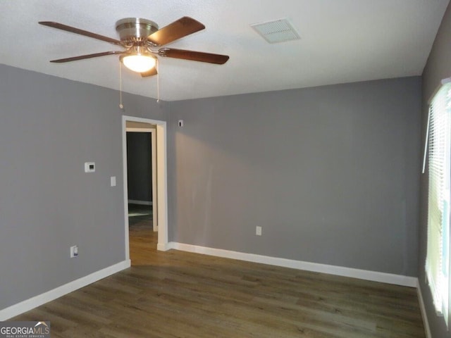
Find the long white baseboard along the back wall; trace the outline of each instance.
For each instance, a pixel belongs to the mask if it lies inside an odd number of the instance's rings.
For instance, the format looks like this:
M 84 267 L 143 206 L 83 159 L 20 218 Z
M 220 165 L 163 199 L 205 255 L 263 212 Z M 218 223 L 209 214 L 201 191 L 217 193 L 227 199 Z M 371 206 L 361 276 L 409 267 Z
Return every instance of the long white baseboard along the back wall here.
M 254 263 L 263 263 L 268 265 L 283 266 L 298 270 L 313 271 L 315 273 L 328 273 L 330 275 L 339 275 L 343 277 L 359 278 L 361 280 L 371 280 L 373 282 L 383 282 L 388 284 L 401 285 L 404 287 L 416 287 L 416 277 L 404 275 L 394 275 L 391 273 L 378 273 L 370 270 L 359 270 L 354 268 L 345 268 L 342 266 L 326 265 L 320 263 L 310 263 L 304 261 L 295 261 L 287 258 L 277 258 L 270 256 L 261 256 L 254 253 L 243 253 L 238 251 L 228 251 L 223 249 L 208 248 L 191 244 L 177 242 L 168 243 L 168 249 L 188 251 L 194 253 L 203 253 L 210 256 L 223 258 L 232 258 L 240 261 L 249 261 Z

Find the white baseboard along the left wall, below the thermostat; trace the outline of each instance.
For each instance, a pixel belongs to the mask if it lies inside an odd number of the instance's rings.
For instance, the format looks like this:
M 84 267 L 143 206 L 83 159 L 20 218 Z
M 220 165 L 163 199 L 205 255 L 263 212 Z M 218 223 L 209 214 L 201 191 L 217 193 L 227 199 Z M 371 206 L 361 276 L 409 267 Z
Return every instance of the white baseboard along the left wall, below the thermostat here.
M 122 261 L 85 277 L 81 277 L 78 280 L 74 280 L 73 282 L 68 282 L 67 284 L 61 285 L 61 287 L 57 287 L 56 289 L 44 292 L 44 294 L 39 294 L 38 296 L 21 301 L 13 306 L 9 306 L 8 308 L 4 308 L 0 310 L 0 321 L 13 318 L 16 315 L 30 311 L 37 306 L 41 306 L 44 303 L 48 303 L 49 301 L 53 301 L 54 299 L 64 296 L 65 294 L 97 282 L 97 280 L 101 280 L 105 277 L 113 275 L 114 273 L 118 273 L 121 270 L 130 268 L 130 264 L 130 260 Z

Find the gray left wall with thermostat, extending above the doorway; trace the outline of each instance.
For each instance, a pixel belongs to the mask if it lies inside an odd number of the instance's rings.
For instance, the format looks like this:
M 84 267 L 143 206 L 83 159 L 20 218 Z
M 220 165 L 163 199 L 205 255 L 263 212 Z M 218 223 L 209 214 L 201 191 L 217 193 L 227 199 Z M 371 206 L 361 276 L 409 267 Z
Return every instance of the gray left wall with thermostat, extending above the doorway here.
M 6 65 L 0 79 L 3 309 L 125 260 L 121 115 L 166 115 L 153 99 L 124 94 L 123 112 L 114 90 Z

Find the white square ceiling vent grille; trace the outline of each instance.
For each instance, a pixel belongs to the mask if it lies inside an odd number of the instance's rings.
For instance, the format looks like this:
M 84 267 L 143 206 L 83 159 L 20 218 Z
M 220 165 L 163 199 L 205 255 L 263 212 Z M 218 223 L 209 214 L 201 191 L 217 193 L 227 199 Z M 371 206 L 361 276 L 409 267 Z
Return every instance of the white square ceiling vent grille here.
M 251 27 L 270 44 L 299 40 L 301 38 L 287 19 L 255 23 Z

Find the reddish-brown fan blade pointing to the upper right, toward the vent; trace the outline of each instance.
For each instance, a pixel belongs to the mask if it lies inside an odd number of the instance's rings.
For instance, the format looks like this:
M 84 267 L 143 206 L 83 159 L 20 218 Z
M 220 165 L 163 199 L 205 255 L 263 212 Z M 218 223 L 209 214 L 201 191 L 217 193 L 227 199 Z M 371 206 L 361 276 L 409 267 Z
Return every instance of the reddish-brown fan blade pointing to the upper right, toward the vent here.
M 169 44 L 181 37 L 186 37 L 199 30 L 203 30 L 205 26 L 199 21 L 190 18 L 189 16 L 184 16 L 173 23 L 157 30 L 147 37 L 147 40 L 154 44 L 155 46 L 163 46 L 164 44 Z

